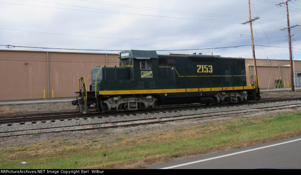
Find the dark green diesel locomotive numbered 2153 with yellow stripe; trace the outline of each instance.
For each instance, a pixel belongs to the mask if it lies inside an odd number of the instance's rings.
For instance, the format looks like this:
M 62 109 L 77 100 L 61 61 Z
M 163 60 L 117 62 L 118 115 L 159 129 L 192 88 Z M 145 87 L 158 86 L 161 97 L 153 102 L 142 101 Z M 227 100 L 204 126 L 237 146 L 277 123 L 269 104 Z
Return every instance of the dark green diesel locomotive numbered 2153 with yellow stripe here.
M 73 105 L 80 112 L 152 109 L 166 104 L 237 103 L 259 100 L 259 81 L 246 75 L 243 58 L 213 55 L 119 53 L 119 66 L 92 68 L 92 84 L 79 79 Z M 249 86 L 247 86 L 247 82 Z

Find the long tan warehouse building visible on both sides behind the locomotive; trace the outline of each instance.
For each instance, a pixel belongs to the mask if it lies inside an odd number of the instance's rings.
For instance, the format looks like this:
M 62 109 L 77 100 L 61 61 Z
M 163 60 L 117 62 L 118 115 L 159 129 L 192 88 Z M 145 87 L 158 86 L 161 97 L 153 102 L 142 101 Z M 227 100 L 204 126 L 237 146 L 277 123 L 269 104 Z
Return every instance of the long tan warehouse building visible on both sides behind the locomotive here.
M 118 66 L 118 54 L 0 50 L 0 100 L 76 97 L 79 78 L 103 65 Z M 290 87 L 290 60 L 256 59 L 256 65 L 261 88 Z M 301 86 L 301 61 L 294 67 Z M 254 75 L 253 59 L 246 59 L 246 75 Z

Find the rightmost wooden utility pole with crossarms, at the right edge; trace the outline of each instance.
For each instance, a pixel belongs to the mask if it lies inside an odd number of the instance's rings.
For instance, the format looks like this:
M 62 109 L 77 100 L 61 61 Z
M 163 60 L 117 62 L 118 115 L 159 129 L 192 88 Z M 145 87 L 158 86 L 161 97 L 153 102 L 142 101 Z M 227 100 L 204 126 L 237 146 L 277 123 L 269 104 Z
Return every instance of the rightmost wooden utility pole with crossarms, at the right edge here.
M 290 18 L 289 18 L 289 15 L 288 15 L 288 5 L 287 5 L 287 2 L 289 2 L 289 1 L 290 0 L 287 0 L 285 2 L 277 4 L 277 7 L 278 7 L 278 5 L 281 6 L 281 4 L 284 4 L 284 3 L 286 4 L 287 27 L 283 28 L 283 29 L 280 29 L 280 30 L 287 29 L 287 31 L 288 31 L 288 46 L 289 46 L 289 50 L 290 50 L 290 86 L 292 87 L 292 91 L 296 91 L 295 90 L 295 83 L 294 83 L 294 74 L 293 74 L 293 58 L 292 58 L 292 44 L 291 44 L 291 38 L 290 38 L 290 28 L 296 27 L 296 26 L 299 26 L 299 25 L 290 26 Z

